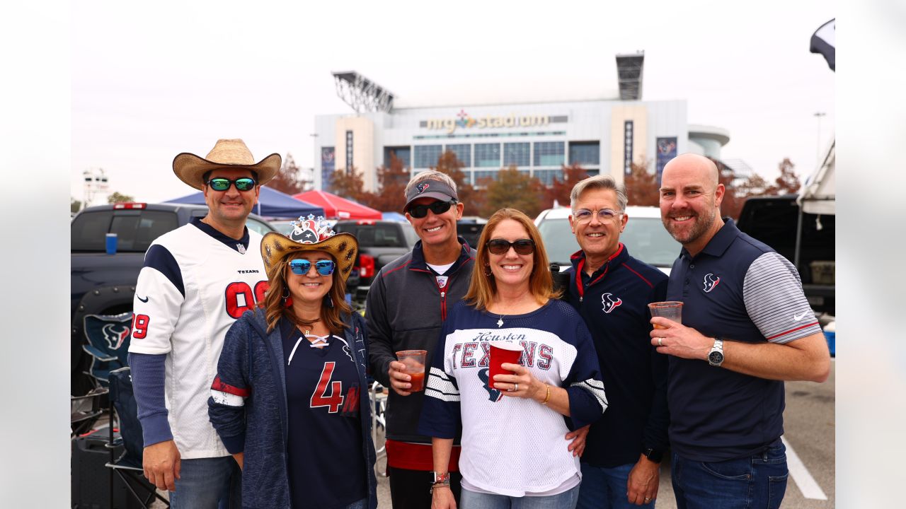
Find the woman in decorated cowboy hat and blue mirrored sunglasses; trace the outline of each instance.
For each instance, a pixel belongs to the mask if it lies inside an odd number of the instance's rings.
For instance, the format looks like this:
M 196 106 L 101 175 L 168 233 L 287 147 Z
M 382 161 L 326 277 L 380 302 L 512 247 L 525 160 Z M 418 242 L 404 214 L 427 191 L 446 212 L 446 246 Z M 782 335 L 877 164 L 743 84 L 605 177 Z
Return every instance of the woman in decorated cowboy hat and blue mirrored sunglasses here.
M 264 305 L 226 332 L 208 414 L 243 507 L 374 509 L 367 332 L 343 299 L 358 242 L 320 217 L 293 225 L 261 242 Z

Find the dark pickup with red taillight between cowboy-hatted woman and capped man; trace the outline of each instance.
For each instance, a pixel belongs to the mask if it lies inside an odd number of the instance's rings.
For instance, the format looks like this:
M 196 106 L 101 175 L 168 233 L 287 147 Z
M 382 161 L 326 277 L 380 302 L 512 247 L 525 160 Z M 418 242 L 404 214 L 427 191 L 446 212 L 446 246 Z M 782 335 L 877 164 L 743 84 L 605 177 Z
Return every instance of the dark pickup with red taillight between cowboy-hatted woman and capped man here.
M 409 223 L 400 221 L 380 221 L 376 219 L 344 219 L 333 225 L 339 233 L 355 235 L 359 240 L 359 255 L 355 260 L 353 273 L 357 273 L 357 284 L 346 283 L 346 291 L 352 293 L 356 301 L 364 299 L 371 288 L 375 274 L 386 264 L 409 253 L 412 246 L 419 241 L 419 235 Z

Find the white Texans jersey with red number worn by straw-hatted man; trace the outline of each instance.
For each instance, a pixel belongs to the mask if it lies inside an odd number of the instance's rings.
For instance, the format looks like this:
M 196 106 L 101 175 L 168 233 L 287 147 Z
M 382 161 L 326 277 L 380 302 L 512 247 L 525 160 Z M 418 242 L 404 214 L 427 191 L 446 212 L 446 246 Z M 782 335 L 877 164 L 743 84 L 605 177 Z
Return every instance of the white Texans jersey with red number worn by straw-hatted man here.
M 207 230 L 207 231 L 206 231 Z M 161 235 L 145 254 L 133 302 L 130 352 L 166 354 L 169 426 L 185 458 L 227 456 L 207 418 L 226 330 L 263 302 L 261 235 L 248 247 L 193 222 Z

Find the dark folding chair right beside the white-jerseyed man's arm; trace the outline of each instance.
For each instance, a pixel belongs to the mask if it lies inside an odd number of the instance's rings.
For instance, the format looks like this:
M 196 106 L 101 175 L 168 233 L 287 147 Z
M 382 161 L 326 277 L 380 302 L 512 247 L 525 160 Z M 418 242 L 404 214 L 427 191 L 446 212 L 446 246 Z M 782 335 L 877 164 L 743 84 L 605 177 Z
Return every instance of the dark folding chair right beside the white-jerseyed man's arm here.
M 113 506 L 113 475 L 118 475 L 130 494 L 145 509 L 157 498 L 167 504 L 169 501 L 159 495 L 157 488 L 144 478 L 141 468 L 141 459 L 144 452 L 143 438 L 141 436 L 141 423 L 139 422 L 139 407 L 132 392 L 132 376 L 129 367 L 112 370 L 110 372 L 110 401 L 111 401 L 111 427 L 110 442 L 111 460 L 105 466 L 111 469 L 111 507 Z M 115 414 L 114 414 L 115 411 Z M 113 417 L 117 418 L 120 426 L 120 437 L 113 437 Z M 116 457 L 114 449 L 123 446 L 120 457 Z M 139 495 L 137 488 L 147 495 Z

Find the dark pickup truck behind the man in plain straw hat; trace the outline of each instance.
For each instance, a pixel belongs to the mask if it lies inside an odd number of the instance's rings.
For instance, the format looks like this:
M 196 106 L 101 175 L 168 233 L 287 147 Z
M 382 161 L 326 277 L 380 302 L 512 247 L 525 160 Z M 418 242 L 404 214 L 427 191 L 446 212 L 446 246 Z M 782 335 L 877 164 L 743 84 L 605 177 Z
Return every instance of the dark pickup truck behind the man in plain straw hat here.
M 132 311 L 135 283 L 151 242 L 170 230 L 207 215 L 207 206 L 183 204 L 117 203 L 90 206 L 72 217 L 72 394 L 90 387 L 82 375 L 91 362 L 82 351 L 83 319 L 89 314 L 119 314 Z M 274 231 L 254 214 L 246 223 L 264 235 Z M 117 250 L 107 255 L 106 235 L 117 234 Z

